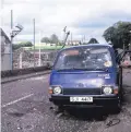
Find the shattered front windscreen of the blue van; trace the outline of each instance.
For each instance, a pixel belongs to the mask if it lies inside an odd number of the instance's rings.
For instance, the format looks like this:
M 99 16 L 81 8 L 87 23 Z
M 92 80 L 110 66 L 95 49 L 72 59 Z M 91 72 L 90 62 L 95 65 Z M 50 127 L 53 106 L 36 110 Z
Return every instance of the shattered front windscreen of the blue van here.
M 112 65 L 110 51 L 106 47 L 76 47 L 66 49 L 58 56 L 56 70 L 106 69 Z

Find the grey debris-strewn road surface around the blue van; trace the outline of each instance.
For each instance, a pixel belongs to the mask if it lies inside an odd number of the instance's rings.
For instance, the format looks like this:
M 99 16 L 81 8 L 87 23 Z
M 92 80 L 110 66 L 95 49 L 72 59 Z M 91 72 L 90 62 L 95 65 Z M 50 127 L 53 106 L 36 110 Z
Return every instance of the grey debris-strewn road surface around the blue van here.
M 103 109 L 57 111 L 48 100 L 48 77 L 2 84 L 2 132 L 131 132 L 131 70 L 123 74 L 124 100 L 118 115 Z M 112 119 L 120 122 L 107 128 Z

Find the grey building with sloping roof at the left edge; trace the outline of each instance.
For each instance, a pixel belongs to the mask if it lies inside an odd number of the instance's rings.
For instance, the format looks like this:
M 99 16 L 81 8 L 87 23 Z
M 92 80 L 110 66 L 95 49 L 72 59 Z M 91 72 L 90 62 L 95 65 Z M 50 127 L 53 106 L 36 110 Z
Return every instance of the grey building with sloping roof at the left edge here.
M 10 52 L 10 44 L 11 40 L 0 28 L 0 43 L 1 43 L 1 71 L 11 70 L 11 52 Z

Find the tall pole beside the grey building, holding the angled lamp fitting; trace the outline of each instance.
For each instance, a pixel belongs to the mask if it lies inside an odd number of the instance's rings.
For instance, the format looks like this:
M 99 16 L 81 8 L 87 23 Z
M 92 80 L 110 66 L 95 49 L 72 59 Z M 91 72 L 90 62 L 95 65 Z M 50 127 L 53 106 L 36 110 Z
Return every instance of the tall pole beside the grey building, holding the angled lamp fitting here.
M 13 29 L 13 10 L 11 10 L 11 32 Z M 13 70 L 13 51 L 12 51 L 12 45 L 13 45 L 13 36 L 11 35 L 11 44 L 10 44 L 10 61 L 11 61 L 11 70 Z

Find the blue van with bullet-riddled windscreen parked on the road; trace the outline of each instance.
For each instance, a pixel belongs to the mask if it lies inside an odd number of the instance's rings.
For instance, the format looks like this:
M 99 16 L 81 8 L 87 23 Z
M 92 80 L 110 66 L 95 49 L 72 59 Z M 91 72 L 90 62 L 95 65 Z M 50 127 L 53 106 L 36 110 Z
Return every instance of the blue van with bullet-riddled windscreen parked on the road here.
M 74 46 L 58 52 L 49 85 L 49 100 L 59 108 L 120 109 L 122 68 L 108 44 Z

